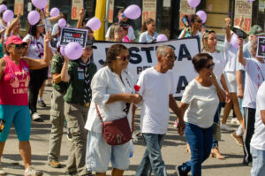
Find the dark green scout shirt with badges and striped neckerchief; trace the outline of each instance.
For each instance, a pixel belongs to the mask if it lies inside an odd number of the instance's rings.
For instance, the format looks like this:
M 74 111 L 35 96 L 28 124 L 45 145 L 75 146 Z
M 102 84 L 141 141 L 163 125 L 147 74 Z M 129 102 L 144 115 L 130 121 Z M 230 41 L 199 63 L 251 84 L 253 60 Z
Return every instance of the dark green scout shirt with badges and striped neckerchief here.
M 64 101 L 79 104 L 90 103 L 92 97 L 90 83 L 96 70 L 94 63 L 84 64 L 81 58 L 70 61 L 68 65 L 69 87 L 64 95 Z

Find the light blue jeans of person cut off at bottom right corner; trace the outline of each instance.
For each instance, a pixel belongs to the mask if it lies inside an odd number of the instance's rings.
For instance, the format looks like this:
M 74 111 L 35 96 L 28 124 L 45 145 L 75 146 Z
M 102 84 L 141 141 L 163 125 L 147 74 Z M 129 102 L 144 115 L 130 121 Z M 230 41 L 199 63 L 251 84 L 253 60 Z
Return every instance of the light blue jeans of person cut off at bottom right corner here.
M 265 150 L 255 149 L 250 146 L 253 159 L 251 176 L 263 176 L 265 173 Z

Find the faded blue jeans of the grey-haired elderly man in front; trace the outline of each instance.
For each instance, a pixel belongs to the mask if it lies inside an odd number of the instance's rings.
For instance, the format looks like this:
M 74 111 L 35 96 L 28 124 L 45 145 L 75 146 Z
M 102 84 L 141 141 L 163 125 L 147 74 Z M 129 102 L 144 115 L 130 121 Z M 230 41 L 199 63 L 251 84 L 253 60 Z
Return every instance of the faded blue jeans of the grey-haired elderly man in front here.
M 155 176 L 167 176 L 161 153 L 164 134 L 142 134 L 142 136 L 147 149 L 135 176 L 149 176 L 152 171 Z

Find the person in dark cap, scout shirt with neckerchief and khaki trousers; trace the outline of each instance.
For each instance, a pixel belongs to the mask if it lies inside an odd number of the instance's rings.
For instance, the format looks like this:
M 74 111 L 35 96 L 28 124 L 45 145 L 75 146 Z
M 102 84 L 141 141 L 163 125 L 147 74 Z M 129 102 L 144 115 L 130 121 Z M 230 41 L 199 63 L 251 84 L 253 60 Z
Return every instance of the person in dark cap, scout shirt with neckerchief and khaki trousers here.
M 91 175 L 86 168 L 87 112 L 91 102 L 90 82 L 97 71 L 96 65 L 90 61 L 96 46 L 87 40 L 87 47 L 82 56 L 73 61 L 64 57 L 61 80 L 68 82 L 64 95 L 64 115 L 72 135 L 72 148 L 68 156 L 66 173 L 77 175 Z

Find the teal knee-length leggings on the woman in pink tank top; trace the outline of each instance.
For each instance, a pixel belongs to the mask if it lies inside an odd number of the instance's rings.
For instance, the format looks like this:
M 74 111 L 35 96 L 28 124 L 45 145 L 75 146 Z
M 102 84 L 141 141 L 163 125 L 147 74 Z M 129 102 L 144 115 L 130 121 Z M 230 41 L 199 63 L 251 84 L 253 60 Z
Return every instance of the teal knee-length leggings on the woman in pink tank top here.
M 14 124 L 19 142 L 28 142 L 30 135 L 31 119 L 28 106 L 0 105 L 0 119 L 4 119 L 4 129 L 0 133 L 0 142 L 5 142 Z

